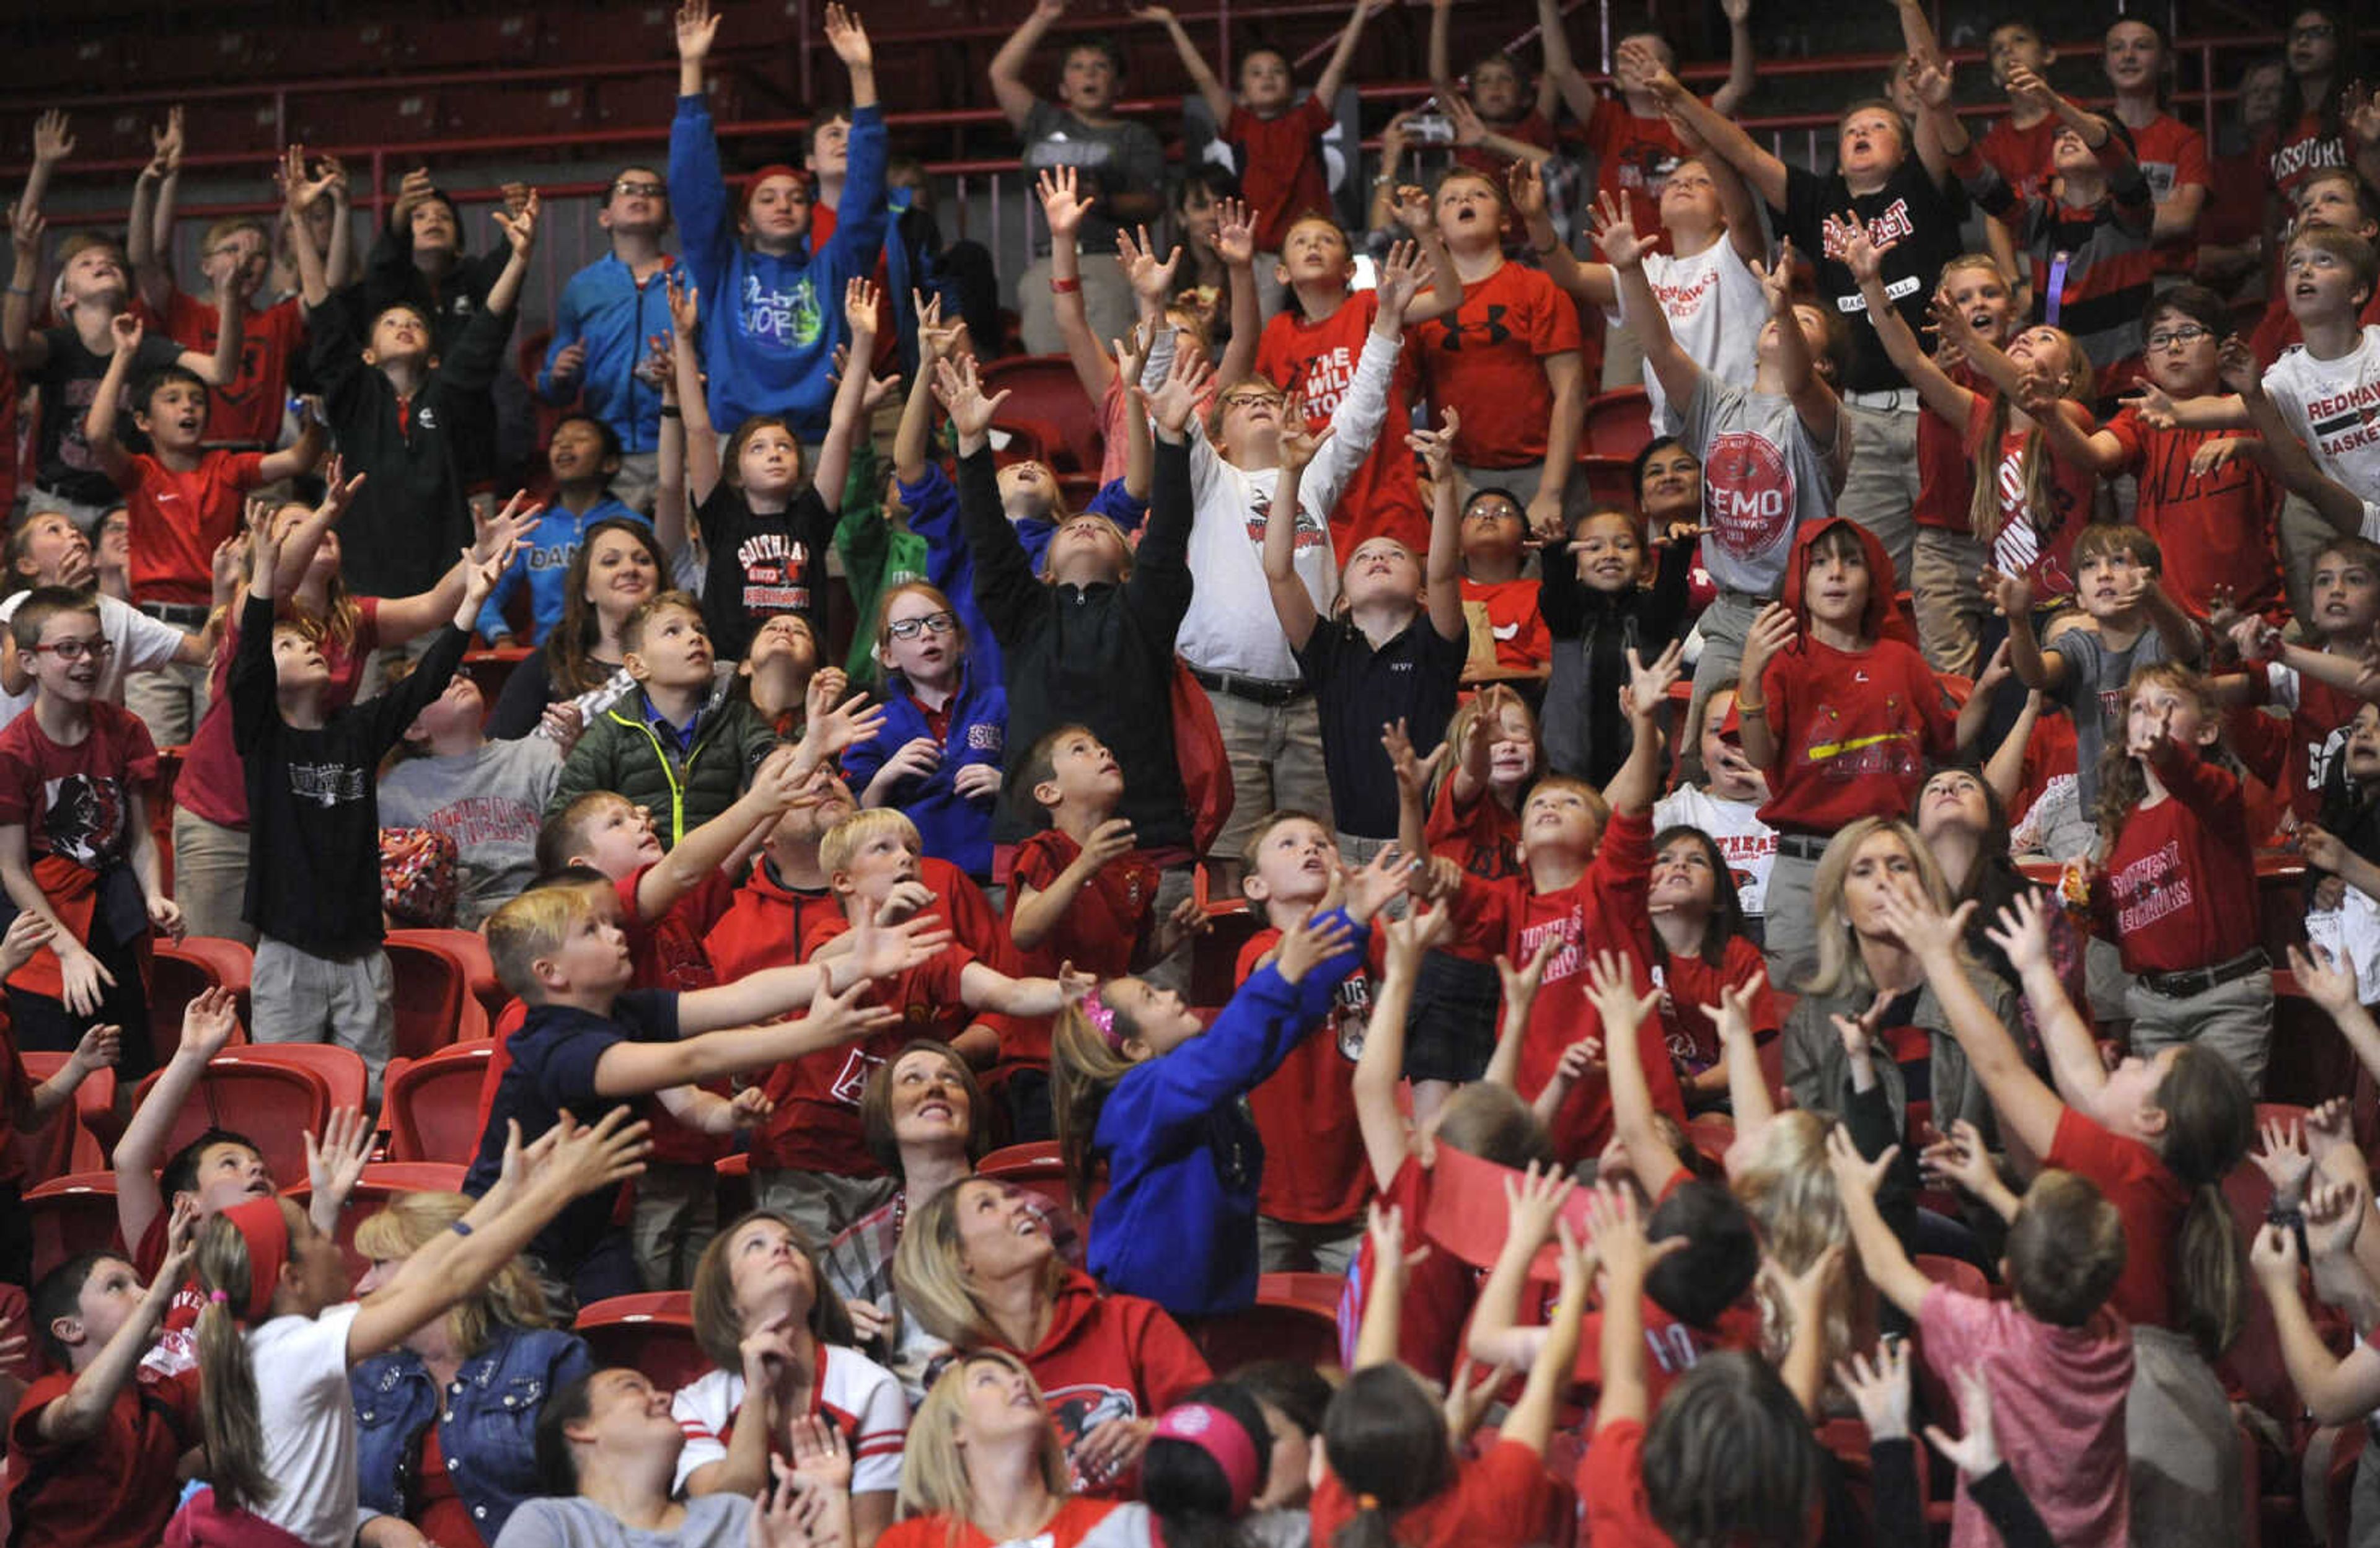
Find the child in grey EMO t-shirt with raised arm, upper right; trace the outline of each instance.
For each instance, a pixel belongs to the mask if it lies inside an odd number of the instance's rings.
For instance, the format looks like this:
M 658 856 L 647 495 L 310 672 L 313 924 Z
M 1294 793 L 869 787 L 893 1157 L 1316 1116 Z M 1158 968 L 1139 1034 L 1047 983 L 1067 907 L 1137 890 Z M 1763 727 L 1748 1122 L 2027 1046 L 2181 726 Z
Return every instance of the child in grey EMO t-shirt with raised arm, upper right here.
M 1637 309 L 1647 378 L 1659 378 L 1676 404 L 1680 440 L 1702 459 L 1709 528 L 1702 564 L 1721 587 L 1718 602 L 1702 611 L 1695 663 L 1695 697 L 1706 699 L 1742 661 L 1759 604 L 1785 585 L 1795 535 L 1825 521 L 1842 487 L 1852 445 L 1828 380 L 1840 376 L 1833 364 L 1840 323 L 1823 307 L 1795 304 L 1792 243 L 1785 243 L 1773 266 L 1752 266 L 1768 321 L 1756 335 L 1752 383 L 1730 385 L 1671 335 L 1642 262 L 1652 243 L 1618 202 L 1606 200 L 1597 214 L 1595 240 Z

